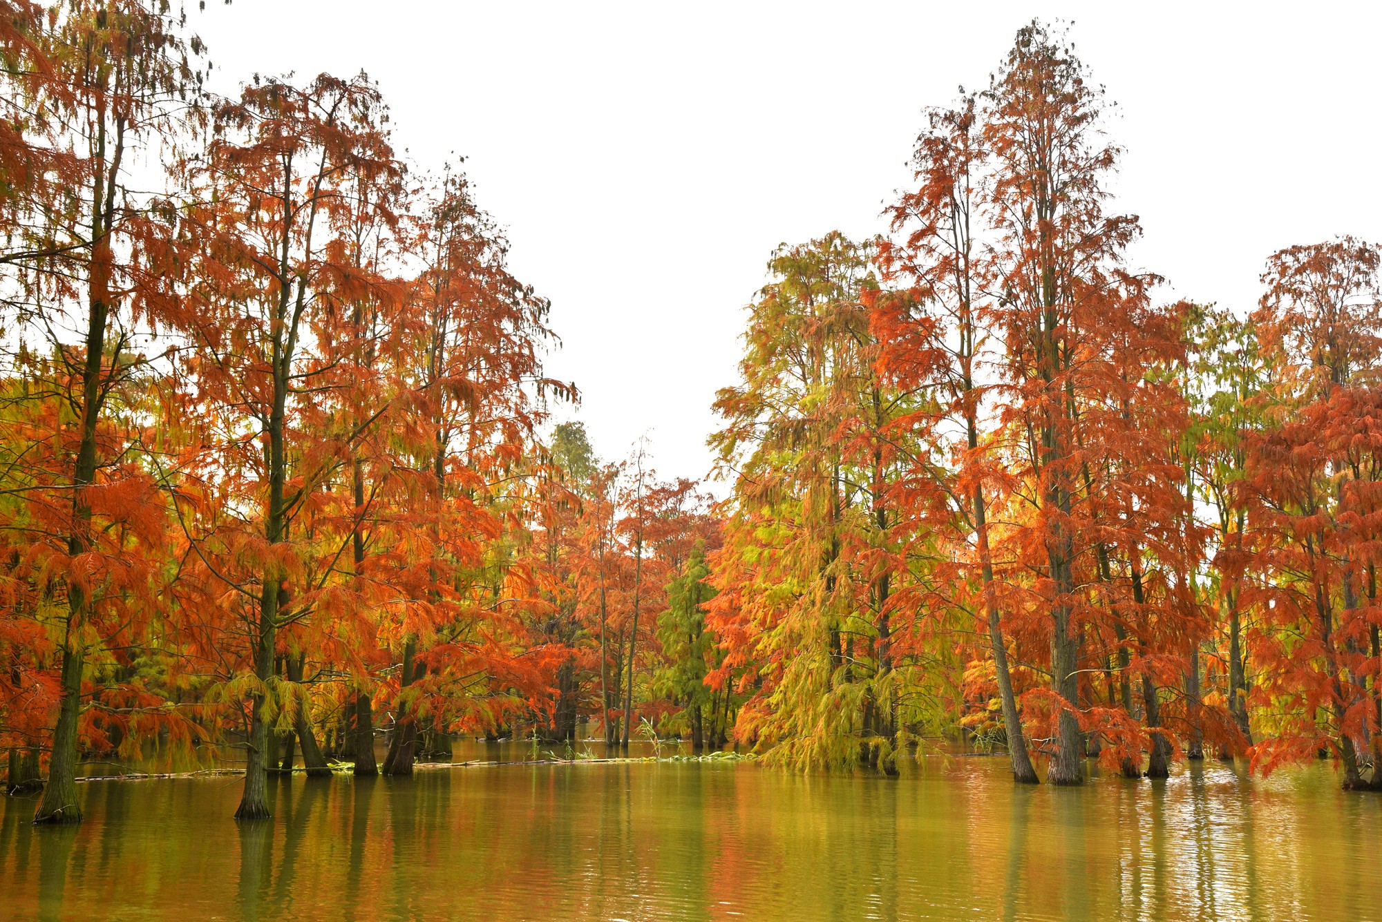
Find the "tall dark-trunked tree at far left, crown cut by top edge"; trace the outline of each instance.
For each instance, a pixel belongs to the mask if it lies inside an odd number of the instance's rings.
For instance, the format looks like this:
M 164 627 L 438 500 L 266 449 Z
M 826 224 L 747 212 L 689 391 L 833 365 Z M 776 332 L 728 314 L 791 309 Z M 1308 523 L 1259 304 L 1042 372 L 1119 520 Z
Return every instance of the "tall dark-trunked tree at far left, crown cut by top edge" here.
M 160 272 L 166 226 L 151 210 L 153 196 L 131 188 L 129 164 L 176 133 L 199 91 L 188 54 L 200 41 L 184 37 L 166 4 L 138 0 L 59 4 L 43 18 L 19 3 L 4 18 L 0 46 L 14 92 L 6 92 L 12 117 L 0 157 L 0 266 L 12 283 L 17 326 L 46 344 L 36 363 L 21 348 L 19 373 L 37 374 L 35 384 L 57 396 L 30 404 L 57 414 L 29 418 L 36 450 L 15 461 L 32 475 L 23 515 L 43 523 L 25 542 L 48 548 L 41 563 L 30 556 L 35 577 L 65 596 L 54 624 L 59 705 L 35 818 L 75 823 L 87 661 L 106 650 L 129 616 L 123 599 L 151 576 L 146 559 L 123 544 L 122 520 L 137 511 L 119 509 L 146 483 L 124 457 L 137 436 L 129 417 L 109 422 L 130 399 L 131 378 L 148 369 L 140 349 L 159 326 L 182 319 Z

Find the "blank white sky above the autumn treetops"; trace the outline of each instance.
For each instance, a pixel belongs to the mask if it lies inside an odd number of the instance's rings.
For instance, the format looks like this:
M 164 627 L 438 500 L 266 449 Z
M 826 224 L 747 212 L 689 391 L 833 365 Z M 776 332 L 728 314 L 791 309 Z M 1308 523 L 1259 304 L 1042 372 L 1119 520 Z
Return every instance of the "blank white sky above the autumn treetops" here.
M 920 110 L 987 84 L 1032 17 L 1071 22 L 1118 102 L 1115 207 L 1168 300 L 1245 309 L 1273 250 L 1382 240 L 1375 3 L 207 0 L 191 19 L 214 88 L 365 69 L 397 148 L 464 156 L 553 301 L 547 369 L 580 388 L 596 451 L 647 432 L 662 476 L 697 478 L 771 250 L 882 230 Z

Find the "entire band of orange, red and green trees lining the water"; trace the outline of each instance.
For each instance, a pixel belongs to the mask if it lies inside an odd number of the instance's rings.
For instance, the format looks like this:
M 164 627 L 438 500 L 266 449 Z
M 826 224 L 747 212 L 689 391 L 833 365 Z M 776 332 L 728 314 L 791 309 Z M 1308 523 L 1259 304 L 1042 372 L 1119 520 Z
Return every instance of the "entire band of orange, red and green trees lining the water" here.
M 1159 301 L 1060 32 L 926 112 L 883 233 L 773 254 L 721 502 L 549 433 L 551 305 L 368 77 L 220 98 L 205 54 L 158 0 L 0 15 L 0 748 L 36 821 L 80 820 L 84 758 L 242 747 L 253 820 L 297 761 L 582 726 L 1382 788 L 1378 247 Z

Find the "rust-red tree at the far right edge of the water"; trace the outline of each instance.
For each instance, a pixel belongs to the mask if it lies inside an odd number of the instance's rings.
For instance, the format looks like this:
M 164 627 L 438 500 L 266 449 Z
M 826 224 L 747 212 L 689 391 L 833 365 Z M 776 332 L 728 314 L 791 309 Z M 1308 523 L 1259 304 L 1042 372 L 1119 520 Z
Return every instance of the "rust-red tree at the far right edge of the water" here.
M 1379 261 L 1378 247 L 1352 237 L 1269 257 L 1253 320 L 1282 422 L 1251 433 L 1241 484 L 1263 577 L 1252 598 L 1280 631 L 1266 646 L 1267 680 L 1296 704 L 1255 762 L 1270 767 L 1328 747 L 1345 788 L 1364 787 L 1359 741 L 1378 729 L 1367 676 L 1382 663 L 1370 614 Z

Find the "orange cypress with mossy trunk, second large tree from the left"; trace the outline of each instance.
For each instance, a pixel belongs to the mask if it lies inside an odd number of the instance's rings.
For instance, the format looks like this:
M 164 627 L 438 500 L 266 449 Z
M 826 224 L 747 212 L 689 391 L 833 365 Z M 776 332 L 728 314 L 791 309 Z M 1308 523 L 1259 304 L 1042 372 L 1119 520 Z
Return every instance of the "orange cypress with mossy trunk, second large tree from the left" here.
M 278 631 L 305 628 L 325 588 L 329 567 L 303 578 L 316 570 L 308 559 L 336 559 L 351 542 L 323 549 L 310 519 L 362 424 L 330 426 L 315 395 L 358 370 L 346 360 L 354 330 L 343 306 L 362 283 L 352 204 L 365 197 L 359 184 L 391 185 L 402 170 L 381 123 L 363 75 L 256 81 L 216 106 L 206 150 L 188 164 L 188 246 L 210 282 L 188 287 L 198 323 L 187 374 L 210 450 L 198 464 L 243 479 L 257 505 L 246 515 L 238 493 L 223 497 L 214 541 L 198 538 L 199 559 L 238 598 L 249 646 L 250 671 L 235 685 L 249 697 L 240 820 L 268 816 Z M 383 207 L 387 196 L 366 200 Z M 213 542 L 231 556 L 216 560 Z

